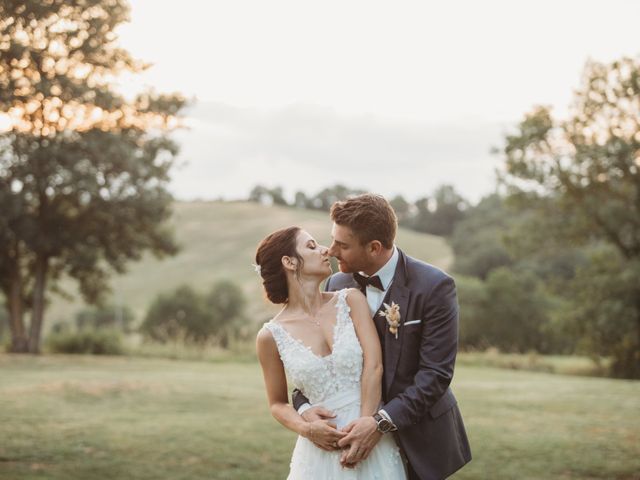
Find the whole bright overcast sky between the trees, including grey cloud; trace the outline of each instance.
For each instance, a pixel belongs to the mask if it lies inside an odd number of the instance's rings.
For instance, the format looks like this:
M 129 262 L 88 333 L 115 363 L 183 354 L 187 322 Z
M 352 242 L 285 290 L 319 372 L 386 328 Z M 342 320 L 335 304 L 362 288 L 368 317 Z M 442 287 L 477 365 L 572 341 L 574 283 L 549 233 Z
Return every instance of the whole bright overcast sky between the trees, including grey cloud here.
M 526 112 L 566 116 L 586 61 L 640 54 L 638 18 L 632 0 L 131 0 L 120 43 L 153 67 L 119 82 L 195 100 L 180 199 L 342 183 L 477 201 Z

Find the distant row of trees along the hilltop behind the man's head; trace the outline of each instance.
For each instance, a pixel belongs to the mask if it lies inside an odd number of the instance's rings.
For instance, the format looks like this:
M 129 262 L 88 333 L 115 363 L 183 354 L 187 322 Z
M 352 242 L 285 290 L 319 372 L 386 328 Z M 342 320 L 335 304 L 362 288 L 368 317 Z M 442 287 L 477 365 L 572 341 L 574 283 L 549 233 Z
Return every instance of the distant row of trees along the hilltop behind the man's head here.
M 266 205 L 328 212 L 335 202 L 362 193 L 365 190 L 337 184 L 324 188 L 315 195 L 298 191 L 293 201 L 287 202 L 282 187 L 256 185 L 249 193 L 248 200 Z M 442 185 L 432 195 L 421 197 L 415 202 L 407 201 L 402 195 L 396 195 L 389 202 L 396 211 L 400 226 L 440 236 L 451 235 L 456 224 L 465 218 L 469 208 L 469 202 L 451 185 Z

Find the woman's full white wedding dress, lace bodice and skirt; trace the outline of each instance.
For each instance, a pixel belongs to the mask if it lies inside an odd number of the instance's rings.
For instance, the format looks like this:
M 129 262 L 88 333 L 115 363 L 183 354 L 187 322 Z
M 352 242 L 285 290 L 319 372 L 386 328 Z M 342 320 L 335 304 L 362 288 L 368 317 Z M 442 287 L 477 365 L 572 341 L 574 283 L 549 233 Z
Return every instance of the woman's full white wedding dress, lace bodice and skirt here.
M 338 429 L 360 417 L 362 348 L 358 342 L 347 304 L 347 290 L 337 293 L 333 351 L 320 357 L 293 338 L 278 322 L 264 324 L 278 346 L 289 380 L 312 405 L 336 414 Z M 340 465 L 340 451 L 327 452 L 299 436 L 291 456 L 289 480 L 373 480 L 406 478 L 400 452 L 393 436 L 385 434 L 369 457 L 355 468 Z

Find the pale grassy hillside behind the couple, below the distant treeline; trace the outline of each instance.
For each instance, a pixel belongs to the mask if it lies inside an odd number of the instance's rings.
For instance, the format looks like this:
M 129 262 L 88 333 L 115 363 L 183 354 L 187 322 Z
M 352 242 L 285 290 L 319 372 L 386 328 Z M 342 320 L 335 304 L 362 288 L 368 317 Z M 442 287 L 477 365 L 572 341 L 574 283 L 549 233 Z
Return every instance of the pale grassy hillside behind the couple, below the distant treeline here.
M 300 225 L 328 245 L 331 230 L 325 212 L 249 202 L 176 202 L 171 223 L 181 246 L 178 255 L 164 260 L 145 256 L 130 264 L 127 274 L 112 279 L 114 301 L 131 307 L 138 321 L 158 293 L 185 283 L 206 291 L 219 279 L 240 285 L 249 300 L 251 318 L 262 321 L 278 309 L 264 300 L 251 267 L 258 242 L 280 227 Z M 397 242 L 409 255 L 445 269 L 451 264 L 452 252 L 440 237 L 400 230 Z M 63 282 L 63 286 L 77 296 L 73 282 Z M 72 318 L 81 307 L 79 299 L 69 302 L 54 297 L 45 328 Z

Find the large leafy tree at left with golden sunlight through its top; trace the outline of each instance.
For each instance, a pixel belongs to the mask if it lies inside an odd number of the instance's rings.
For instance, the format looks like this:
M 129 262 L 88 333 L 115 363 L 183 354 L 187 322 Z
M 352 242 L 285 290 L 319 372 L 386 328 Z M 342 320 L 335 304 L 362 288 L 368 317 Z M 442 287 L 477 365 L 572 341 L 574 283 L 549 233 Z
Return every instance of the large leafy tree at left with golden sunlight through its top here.
M 47 293 L 66 274 L 87 302 L 145 250 L 177 246 L 164 225 L 179 95 L 127 100 L 122 72 L 147 65 L 119 48 L 124 0 L 0 3 L 0 288 L 15 352 L 38 352 Z M 29 327 L 24 316 L 31 313 Z

